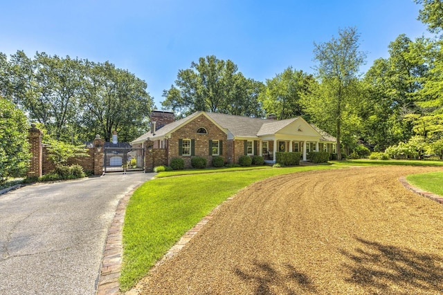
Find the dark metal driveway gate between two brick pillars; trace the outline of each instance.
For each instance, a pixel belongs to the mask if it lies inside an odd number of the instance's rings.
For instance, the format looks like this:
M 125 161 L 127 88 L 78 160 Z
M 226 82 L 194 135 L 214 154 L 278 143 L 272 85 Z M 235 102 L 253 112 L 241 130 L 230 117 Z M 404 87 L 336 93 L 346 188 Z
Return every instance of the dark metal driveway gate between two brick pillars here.
M 145 169 L 145 149 L 105 148 L 103 166 L 105 173 L 143 171 Z

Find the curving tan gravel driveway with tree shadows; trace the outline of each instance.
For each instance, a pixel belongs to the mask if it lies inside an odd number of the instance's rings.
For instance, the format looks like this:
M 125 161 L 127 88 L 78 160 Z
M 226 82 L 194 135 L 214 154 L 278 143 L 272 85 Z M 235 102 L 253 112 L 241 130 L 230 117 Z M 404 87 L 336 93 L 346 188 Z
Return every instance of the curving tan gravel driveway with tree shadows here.
M 224 203 L 141 294 L 443 294 L 443 206 L 398 178 L 441 168 L 310 171 Z

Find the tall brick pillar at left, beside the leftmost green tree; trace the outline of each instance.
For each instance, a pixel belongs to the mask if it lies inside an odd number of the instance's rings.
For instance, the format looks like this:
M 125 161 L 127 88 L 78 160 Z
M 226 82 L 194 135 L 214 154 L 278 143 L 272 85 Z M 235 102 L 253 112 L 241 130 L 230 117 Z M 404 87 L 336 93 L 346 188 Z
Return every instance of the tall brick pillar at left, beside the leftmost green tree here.
M 31 153 L 28 177 L 40 177 L 43 173 L 43 148 L 42 148 L 43 132 L 38 129 L 35 124 L 30 124 L 28 141 L 29 151 Z

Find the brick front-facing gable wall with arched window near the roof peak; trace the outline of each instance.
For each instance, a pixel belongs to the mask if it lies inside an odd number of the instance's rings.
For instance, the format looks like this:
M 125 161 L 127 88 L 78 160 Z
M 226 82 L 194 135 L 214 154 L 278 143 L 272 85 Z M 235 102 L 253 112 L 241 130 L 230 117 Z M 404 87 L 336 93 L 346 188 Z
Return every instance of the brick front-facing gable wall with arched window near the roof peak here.
M 208 134 L 197 133 L 197 129 L 204 128 L 208 131 Z M 177 129 L 172 133 L 169 140 L 169 155 L 168 164 L 173 158 L 182 158 L 185 161 L 185 166 L 187 168 L 191 167 L 190 156 L 179 155 L 179 140 L 180 139 L 190 139 L 195 140 L 195 156 L 204 157 L 210 166 L 213 156 L 209 155 L 209 140 L 221 140 L 222 141 L 222 155 L 221 157 L 226 158 L 228 153 L 228 141 L 226 140 L 226 133 L 221 131 L 213 122 L 208 120 L 208 118 L 201 114 L 195 119 Z

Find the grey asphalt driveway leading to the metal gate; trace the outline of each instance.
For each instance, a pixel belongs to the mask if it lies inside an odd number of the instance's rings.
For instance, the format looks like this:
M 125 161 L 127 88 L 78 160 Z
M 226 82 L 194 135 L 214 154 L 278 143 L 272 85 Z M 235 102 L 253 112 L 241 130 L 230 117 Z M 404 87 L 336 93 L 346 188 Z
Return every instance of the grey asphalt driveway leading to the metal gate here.
M 0 195 L 0 294 L 95 294 L 118 201 L 152 176 L 114 173 Z

